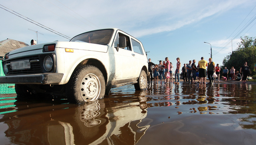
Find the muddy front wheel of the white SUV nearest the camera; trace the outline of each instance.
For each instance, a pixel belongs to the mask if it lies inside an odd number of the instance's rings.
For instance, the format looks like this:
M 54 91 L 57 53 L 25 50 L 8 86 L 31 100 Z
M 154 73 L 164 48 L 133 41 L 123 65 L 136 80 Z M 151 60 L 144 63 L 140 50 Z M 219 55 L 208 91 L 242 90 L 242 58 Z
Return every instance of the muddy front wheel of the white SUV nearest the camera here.
M 105 79 L 102 72 L 95 66 L 81 66 L 70 78 L 66 91 L 71 103 L 82 104 L 104 97 Z

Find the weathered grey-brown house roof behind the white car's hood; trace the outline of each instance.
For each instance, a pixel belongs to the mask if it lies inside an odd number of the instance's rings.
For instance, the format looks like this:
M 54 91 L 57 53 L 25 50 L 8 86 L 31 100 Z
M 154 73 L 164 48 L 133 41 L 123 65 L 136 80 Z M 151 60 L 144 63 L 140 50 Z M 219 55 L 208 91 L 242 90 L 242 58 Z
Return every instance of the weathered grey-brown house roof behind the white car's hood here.
M 22 48 L 28 46 L 28 44 L 17 41 L 17 40 L 12 40 L 12 39 L 6 39 L 0 41 L 0 56 L 5 56 L 7 52 L 10 52 L 12 50 Z

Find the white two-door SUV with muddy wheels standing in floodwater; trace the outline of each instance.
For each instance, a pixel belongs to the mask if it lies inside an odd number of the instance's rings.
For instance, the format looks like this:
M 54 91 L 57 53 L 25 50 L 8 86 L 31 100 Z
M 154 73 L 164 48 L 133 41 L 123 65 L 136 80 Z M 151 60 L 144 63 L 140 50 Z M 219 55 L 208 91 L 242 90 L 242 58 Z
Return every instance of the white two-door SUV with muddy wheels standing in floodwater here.
M 82 33 L 69 42 L 16 49 L 2 64 L 6 76 L 0 83 L 14 83 L 17 99 L 49 94 L 78 104 L 102 98 L 122 85 L 145 89 L 148 73 L 142 43 L 116 28 Z

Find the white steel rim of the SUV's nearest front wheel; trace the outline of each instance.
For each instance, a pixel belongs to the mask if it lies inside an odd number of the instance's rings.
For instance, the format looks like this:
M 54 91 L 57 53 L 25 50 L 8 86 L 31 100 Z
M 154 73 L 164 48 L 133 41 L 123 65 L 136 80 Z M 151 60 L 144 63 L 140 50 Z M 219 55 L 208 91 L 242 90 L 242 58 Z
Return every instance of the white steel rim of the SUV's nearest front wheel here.
M 95 74 L 87 74 L 80 83 L 80 95 L 83 100 L 98 99 L 101 91 L 100 79 Z

